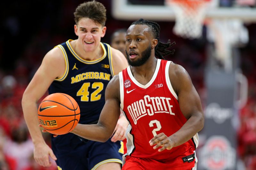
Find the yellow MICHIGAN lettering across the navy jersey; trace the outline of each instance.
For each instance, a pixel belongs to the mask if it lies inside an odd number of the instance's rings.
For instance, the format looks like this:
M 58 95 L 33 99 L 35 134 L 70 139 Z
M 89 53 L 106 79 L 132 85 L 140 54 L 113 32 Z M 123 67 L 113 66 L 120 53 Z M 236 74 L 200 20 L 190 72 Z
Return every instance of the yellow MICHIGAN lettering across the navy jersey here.
M 110 74 L 103 72 L 85 72 L 76 75 L 76 77 L 71 77 L 71 84 L 80 82 L 86 79 L 100 79 L 100 80 L 110 80 Z

